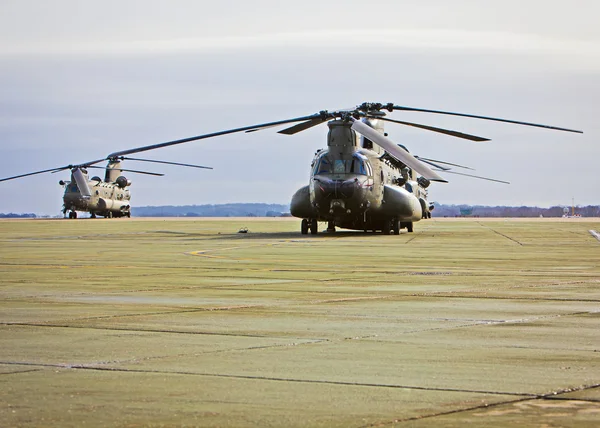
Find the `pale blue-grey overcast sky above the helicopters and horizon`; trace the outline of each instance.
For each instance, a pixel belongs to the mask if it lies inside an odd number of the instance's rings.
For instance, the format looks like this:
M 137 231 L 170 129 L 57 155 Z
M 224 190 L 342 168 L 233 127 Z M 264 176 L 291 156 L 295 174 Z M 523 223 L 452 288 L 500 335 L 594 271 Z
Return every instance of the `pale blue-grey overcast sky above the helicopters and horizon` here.
M 374 101 L 584 131 L 395 112 L 490 138 L 386 124 L 413 154 L 511 183 L 446 175 L 431 201 L 600 204 L 598 16 L 595 0 L 2 0 L 0 177 Z M 327 127 L 276 131 L 140 154 L 214 169 L 129 162 L 165 174 L 129 174 L 132 205 L 289 203 Z M 0 212 L 58 214 L 61 179 L 0 183 Z

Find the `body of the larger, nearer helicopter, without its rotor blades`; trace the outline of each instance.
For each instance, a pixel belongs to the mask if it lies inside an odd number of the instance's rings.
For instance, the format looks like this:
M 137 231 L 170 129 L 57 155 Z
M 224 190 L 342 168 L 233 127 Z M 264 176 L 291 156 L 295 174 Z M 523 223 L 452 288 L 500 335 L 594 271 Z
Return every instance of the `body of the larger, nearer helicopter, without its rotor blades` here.
M 290 206 L 291 214 L 303 219 L 303 233 L 316 233 L 317 221 L 328 222 L 329 230 L 399 233 L 430 217 L 427 190 L 409 168 L 359 137 L 349 123 L 328 125 L 328 148 L 315 154 L 309 184 L 296 192 Z

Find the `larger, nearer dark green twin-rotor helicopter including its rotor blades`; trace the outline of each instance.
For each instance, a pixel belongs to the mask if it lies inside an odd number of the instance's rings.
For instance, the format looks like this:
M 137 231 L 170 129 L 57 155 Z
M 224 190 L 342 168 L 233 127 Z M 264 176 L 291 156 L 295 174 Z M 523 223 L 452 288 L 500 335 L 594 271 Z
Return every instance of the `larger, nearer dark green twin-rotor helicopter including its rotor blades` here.
M 470 169 L 463 165 L 413 156 L 404 146 L 387 138 L 383 124 L 384 122 L 393 122 L 471 141 L 489 141 L 488 138 L 390 119 L 386 117 L 384 110 L 390 113 L 413 111 L 462 116 L 582 133 L 582 131 L 549 125 L 405 107 L 393 103 L 363 103 L 354 109 L 323 110 L 308 116 L 123 150 L 112 153 L 109 158 L 220 135 L 254 132 L 300 122 L 279 131 L 281 134 L 292 135 L 328 122 L 328 147 L 317 151 L 311 164 L 308 185 L 293 195 L 290 204 L 291 214 L 302 219 L 300 226 L 302 234 L 307 234 L 309 230 L 311 234 L 317 234 L 320 221 L 327 222 L 329 232 L 334 232 L 336 227 L 364 230 L 365 232 L 382 231 L 383 234 L 390 234 L 393 231 L 395 235 L 398 235 L 404 228 L 408 232 L 412 232 L 414 222 L 431 217 L 433 205 L 427 201 L 427 189 L 431 182 L 447 182 L 438 172 L 466 175 L 508 184 L 502 180 L 451 171 L 452 166 Z

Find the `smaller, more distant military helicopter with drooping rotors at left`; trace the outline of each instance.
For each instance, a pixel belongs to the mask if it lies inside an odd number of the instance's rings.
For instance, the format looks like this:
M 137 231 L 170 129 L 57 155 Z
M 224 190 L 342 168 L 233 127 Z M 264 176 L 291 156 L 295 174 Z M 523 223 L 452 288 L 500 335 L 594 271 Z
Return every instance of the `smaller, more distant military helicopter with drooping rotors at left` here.
M 95 164 L 104 162 L 106 160 L 108 160 L 108 165 L 106 167 L 95 166 Z M 212 169 L 211 167 L 207 166 L 186 163 L 127 158 L 125 156 L 109 156 L 105 159 L 98 159 L 79 165 L 66 165 L 58 168 L 16 175 L 13 177 L 0 179 L 0 181 L 13 180 L 15 178 L 27 177 L 46 172 L 56 173 L 69 169 L 71 171 L 71 180 L 60 180 L 58 182 L 65 188 L 62 209 L 62 213 L 65 217 L 67 217 L 68 212 L 69 218 L 75 219 L 77 218 L 78 211 L 88 212 L 92 218 L 96 218 L 96 216 L 102 216 L 105 218 L 131 217 L 131 192 L 129 190 L 131 181 L 123 176 L 122 173 L 133 172 L 136 174 L 147 174 L 154 176 L 163 176 L 164 174 L 125 169 L 121 166 L 121 162 L 123 160 Z M 104 176 L 104 181 L 98 176 L 89 178 L 87 171 L 89 168 L 105 169 L 106 173 Z

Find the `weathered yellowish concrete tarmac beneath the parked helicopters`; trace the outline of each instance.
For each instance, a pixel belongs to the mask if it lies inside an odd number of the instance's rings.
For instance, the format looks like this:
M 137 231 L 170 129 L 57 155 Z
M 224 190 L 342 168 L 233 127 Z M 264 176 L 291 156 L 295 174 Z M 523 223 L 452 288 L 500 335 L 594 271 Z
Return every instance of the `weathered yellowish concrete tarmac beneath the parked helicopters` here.
M 589 230 L 0 221 L 0 426 L 595 427 Z

